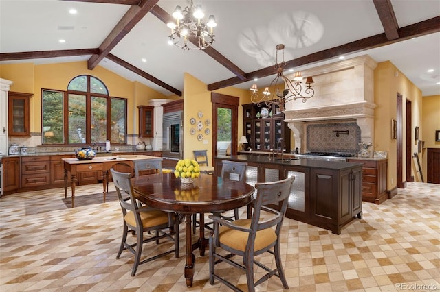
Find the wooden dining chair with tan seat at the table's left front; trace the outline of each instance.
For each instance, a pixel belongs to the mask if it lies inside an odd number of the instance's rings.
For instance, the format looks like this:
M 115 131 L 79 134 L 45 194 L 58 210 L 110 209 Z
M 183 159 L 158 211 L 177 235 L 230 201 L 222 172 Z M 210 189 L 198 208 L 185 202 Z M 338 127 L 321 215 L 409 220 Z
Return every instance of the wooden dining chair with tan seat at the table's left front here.
M 122 209 L 124 218 L 124 228 L 122 232 L 122 241 L 116 258 L 120 258 L 122 251 L 129 250 L 135 255 L 131 276 L 135 276 L 137 267 L 143 263 L 148 263 L 156 258 L 166 256 L 175 252 L 175 258 L 179 258 L 179 218 L 177 214 L 164 212 L 141 206 L 140 202 L 133 195 L 131 186 L 131 173 L 121 173 L 110 169 L 115 184 L 116 193 Z M 127 234 L 134 230 L 136 234 L 135 243 L 127 243 Z M 148 238 L 144 238 L 144 232 L 149 232 Z M 159 239 L 170 239 L 173 241 L 173 249 L 160 254 L 150 256 L 140 260 L 142 255 L 142 245 L 151 241 L 159 244 Z

